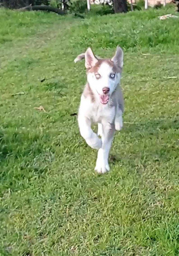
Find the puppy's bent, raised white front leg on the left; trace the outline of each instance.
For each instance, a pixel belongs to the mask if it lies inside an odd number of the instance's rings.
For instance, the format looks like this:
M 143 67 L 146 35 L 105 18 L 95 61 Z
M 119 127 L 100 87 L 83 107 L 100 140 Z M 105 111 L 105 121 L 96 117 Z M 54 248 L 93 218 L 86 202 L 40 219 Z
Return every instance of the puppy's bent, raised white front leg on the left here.
M 80 133 L 82 137 L 86 140 L 86 143 L 92 147 L 94 150 L 98 150 L 102 146 L 102 141 L 99 139 L 97 134 L 95 134 L 91 129 L 90 119 L 79 116 L 78 118 Z

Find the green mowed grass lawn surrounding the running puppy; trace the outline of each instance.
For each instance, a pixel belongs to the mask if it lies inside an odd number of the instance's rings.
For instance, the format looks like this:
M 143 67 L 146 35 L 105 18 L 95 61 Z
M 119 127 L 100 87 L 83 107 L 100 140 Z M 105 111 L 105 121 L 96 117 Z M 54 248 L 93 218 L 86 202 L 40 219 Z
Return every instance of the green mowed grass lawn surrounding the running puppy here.
M 1 255 L 179 254 L 179 26 L 158 19 L 167 13 L 0 9 Z M 110 57 L 117 45 L 124 129 L 110 172 L 97 175 L 71 116 L 86 81 L 73 59 L 89 46 Z

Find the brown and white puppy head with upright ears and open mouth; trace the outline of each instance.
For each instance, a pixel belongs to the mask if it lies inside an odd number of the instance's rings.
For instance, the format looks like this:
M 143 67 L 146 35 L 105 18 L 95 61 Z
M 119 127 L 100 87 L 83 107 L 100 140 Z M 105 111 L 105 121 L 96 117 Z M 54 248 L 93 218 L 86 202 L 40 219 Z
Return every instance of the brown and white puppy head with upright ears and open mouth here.
M 123 67 L 123 51 L 117 47 L 111 59 L 98 59 L 91 48 L 85 52 L 87 80 L 101 104 L 107 104 L 120 82 Z

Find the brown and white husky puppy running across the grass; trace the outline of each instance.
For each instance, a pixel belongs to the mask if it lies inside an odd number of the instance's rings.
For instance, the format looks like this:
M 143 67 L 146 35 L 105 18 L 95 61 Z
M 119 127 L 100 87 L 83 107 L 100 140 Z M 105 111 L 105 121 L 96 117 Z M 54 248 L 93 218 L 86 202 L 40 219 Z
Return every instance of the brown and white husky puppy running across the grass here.
M 98 150 L 95 170 L 110 170 L 108 158 L 115 130 L 122 128 L 123 96 L 119 86 L 123 67 L 123 51 L 117 47 L 111 59 L 101 59 L 91 48 L 74 59 L 76 63 L 85 58 L 87 84 L 81 97 L 78 114 L 80 133 L 86 143 Z M 98 124 L 98 133 L 91 124 Z M 101 139 L 98 137 L 101 136 Z

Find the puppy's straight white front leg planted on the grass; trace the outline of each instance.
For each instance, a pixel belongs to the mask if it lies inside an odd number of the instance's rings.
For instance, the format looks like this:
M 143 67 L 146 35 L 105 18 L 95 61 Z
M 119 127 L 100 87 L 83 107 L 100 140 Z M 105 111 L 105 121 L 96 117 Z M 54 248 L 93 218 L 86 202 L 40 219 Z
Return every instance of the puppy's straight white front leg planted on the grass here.
M 111 148 L 111 144 L 113 141 L 115 132 L 115 125 L 113 123 L 103 123 L 103 133 L 101 136 L 102 139 L 102 147 L 99 148 L 96 160 L 95 170 L 98 173 L 106 173 L 110 170 L 108 158 L 109 152 Z

